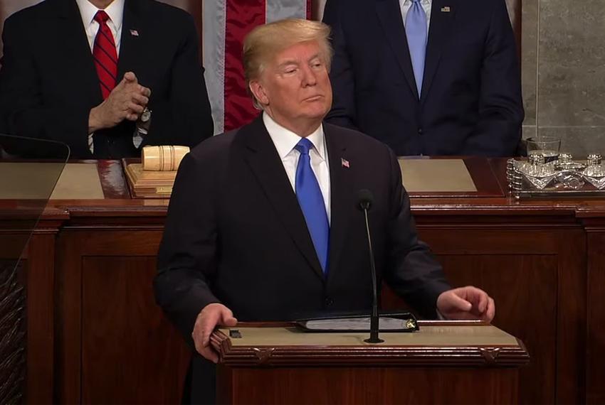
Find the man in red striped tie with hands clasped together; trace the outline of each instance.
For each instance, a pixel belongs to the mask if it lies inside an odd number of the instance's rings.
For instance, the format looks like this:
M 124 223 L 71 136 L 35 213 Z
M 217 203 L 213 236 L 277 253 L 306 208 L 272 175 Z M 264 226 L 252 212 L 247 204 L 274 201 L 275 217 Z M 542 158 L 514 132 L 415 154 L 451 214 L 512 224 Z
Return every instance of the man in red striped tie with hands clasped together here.
M 63 141 L 73 158 L 195 146 L 214 132 L 199 39 L 181 9 L 46 0 L 9 17 L 3 41 L 0 132 Z

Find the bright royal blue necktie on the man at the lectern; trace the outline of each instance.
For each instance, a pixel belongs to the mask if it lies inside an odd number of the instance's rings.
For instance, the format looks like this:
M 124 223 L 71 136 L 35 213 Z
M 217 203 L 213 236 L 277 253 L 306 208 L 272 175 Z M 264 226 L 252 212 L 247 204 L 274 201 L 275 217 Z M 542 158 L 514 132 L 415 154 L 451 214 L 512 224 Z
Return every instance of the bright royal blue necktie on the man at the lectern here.
M 315 246 L 315 252 L 317 252 L 317 259 L 320 259 L 320 264 L 325 273 L 327 269 L 327 247 L 328 238 L 330 237 L 330 225 L 327 222 L 320 183 L 317 183 L 315 173 L 311 169 L 309 151 L 312 147 L 312 142 L 306 138 L 300 139 L 294 147 L 300 152 L 298 166 L 296 166 L 295 190 L 300 209 L 302 210 L 302 214 L 305 215 L 307 228 Z

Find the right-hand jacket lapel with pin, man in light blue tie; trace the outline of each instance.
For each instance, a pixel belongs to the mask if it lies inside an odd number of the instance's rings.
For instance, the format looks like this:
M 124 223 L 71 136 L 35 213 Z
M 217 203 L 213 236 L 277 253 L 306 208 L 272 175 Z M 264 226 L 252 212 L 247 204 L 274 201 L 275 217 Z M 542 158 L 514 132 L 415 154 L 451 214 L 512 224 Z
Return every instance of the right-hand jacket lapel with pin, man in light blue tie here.
M 435 77 L 439 59 L 441 58 L 441 49 L 450 37 L 456 9 L 456 0 L 433 0 L 431 6 L 431 24 L 428 29 L 428 43 L 426 45 L 426 58 L 424 61 L 421 103 L 424 102 L 428 91 L 431 90 L 433 77 Z

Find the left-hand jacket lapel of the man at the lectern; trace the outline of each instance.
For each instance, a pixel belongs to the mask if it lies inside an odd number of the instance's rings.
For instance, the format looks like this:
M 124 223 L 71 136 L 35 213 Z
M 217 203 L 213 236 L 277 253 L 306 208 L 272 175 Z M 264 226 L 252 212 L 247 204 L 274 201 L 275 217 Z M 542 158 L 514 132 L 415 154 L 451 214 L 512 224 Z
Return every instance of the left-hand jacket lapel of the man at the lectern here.
M 244 126 L 240 131 L 241 134 L 238 136 L 246 140 L 246 161 L 258 178 L 258 183 L 261 184 L 275 214 L 308 264 L 323 279 L 323 270 L 307 230 L 305 217 L 302 215 L 283 163 L 263 124 L 262 116 L 255 119 L 252 124 Z

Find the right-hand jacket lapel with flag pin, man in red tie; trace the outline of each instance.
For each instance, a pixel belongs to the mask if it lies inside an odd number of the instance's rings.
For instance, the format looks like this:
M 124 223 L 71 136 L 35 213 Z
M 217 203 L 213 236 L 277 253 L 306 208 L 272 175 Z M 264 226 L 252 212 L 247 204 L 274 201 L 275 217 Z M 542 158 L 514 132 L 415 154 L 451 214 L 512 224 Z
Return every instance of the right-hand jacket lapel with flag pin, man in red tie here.
M 124 77 L 125 72 L 140 70 L 138 63 L 143 60 L 142 42 L 145 41 L 146 31 L 142 26 L 144 4 L 139 0 L 126 0 L 124 18 L 122 20 L 122 38 L 120 40 L 120 55 L 117 60 L 117 82 Z M 149 48 L 152 49 L 152 48 Z

